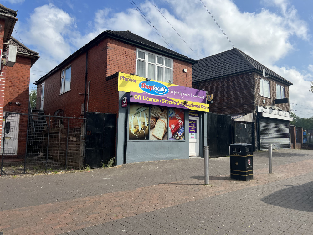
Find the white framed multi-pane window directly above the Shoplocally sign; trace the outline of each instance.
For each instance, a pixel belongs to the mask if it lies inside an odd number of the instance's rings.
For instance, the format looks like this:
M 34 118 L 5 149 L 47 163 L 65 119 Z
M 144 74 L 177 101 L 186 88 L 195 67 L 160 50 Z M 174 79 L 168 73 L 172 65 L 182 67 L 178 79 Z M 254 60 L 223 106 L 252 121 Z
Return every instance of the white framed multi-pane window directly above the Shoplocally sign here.
M 173 60 L 137 48 L 136 74 L 157 81 L 173 82 Z

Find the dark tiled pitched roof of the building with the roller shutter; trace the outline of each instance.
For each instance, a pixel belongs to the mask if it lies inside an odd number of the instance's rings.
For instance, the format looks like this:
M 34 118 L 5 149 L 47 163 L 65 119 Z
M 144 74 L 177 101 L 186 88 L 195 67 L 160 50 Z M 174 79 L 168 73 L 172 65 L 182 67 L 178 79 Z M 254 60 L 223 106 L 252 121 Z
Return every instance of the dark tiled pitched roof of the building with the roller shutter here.
M 237 48 L 198 60 L 198 63 L 192 68 L 192 82 L 205 81 L 248 71 L 256 71 L 263 74 L 263 68 L 265 68 L 266 75 L 292 85 L 290 81 L 287 81 Z

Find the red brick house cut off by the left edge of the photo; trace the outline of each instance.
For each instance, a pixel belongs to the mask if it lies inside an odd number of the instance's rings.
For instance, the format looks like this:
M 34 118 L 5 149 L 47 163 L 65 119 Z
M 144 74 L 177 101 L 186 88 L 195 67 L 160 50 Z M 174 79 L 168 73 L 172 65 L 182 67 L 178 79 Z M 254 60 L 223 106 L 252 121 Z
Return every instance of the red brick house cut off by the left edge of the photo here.
M 19 115 L 6 116 L 7 112 L 28 113 L 29 104 L 29 79 L 30 68 L 38 60 L 39 53 L 30 50 L 25 45 L 11 36 L 17 12 L 0 4 L 0 49 L 1 58 L 1 80 L 0 89 L 3 97 L 0 99 L 0 115 L 6 120 L 5 151 L 6 158 L 19 158 L 24 156 L 27 136 L 27 117 L 19 118 Z M 7 50 L 16 50 L 14 58 L 6 56 Z M 11 55 L 11 54 L 10 54 Z M 10 59 L 15 62 L 8 63 Z M 7 64 L 7 65 L 6 65 Z M 2 129 L 4 123 L 1 123 Z M 23 129 L 19 130 L 22 127 Z M 3 140 L 2 140 L 3 147 Z M 2 153 L 1 148 L 1 153 Z

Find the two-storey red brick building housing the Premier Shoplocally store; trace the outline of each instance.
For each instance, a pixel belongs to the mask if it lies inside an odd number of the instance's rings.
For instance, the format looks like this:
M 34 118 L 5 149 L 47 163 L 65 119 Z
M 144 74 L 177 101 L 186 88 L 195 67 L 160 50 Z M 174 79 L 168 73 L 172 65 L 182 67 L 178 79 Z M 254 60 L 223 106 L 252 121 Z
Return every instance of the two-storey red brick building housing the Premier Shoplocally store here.
M 37 104 L 40 104 L 37 108 L 43 109 L 45 114 L 50 115 L 62 113 L 64 116 L 87 117 L 86 149 L 90 149 L 87 146 L 88 138 L 93 138 L 95 133 L 95 130 L 90 130 L 88 127 L 90 123 L 88 113 L 115 114 L 117 118 L 115 156 L 118 165 L 148 160 L 189 158 L 189 138 L 182 135 L 183 129 L 180 129 L 179 135 L 169 134 L 167 121 L 171 123 L 172 116 L 179 114 L 179 118 L 184 123 L 180 125 L 188 130 L 187 110 L 197 111 L 197 114 L 192 115 L 197 115 L 198 119 L 200 116 L 200 120 L 204 111 L 208 112 L 205 92 L 191 88 L 192 65 L 196 62 L 128 30 L 108 30 L 35 82 Z M 144 88 L 139 91 L 139 83 L 141 87 L 150 87 L 150 93 L 143 91 Z M 173 88 L 176 90 L 174 91 Z M 173 95 L 177 93 L 179 97 L 163 96 L 161 90 Z M 152 94 L 152 91 L 159 93 Z M 183 95 L 181 91 L 194 92 L 197 97 L 188 97 L 190 93 Z M 126 108 L 121 107 L 122 101 L 128 101 Z M 174 103 L 175 107 L 173 107 Z M 204 108 L 195 108 L 201 106 L 197 106 L 199 103 Z M 150 128 L 146 129 L 146 125 L 143 124 L 145 126 L 143 129 L 131 128 L 133 121 L 130 118 L 135 117 L 138 110 L 150 116 L 149 122 L 145 122 Z M 164 128 L 158 132 L 159 135 L 155 131 L 154 134 L 159 137 L 156 139 L 153 136 L 152 126 L 154 127 L 161 116 L 165 128 L 161 121 L 161 125 L 156 124 L 156 126 L 163 125 Z M 96 117 L 98 118 L 94 118 L 94 123 L 100 120 L 100 116 Z M 102 123 L 101 121 L 97 125 Z M 202 122 L 198 121 L 199 123 Z M 134 127 L 136 128 L 135 124 Z M 102 130 L 101 127 L 101 132 Z M 102 141 L 102 134 L 97 139 L 101 138 Z M 175 140 L 172 134 L 175 135 Z M 202 134 L 198 135 L 200 138 Z M 110 139 L 114 139 L 115 145 L 115 135 Z M 102 143 L 100 145 L 100 149 L 104 149 Z M 92 151 L 99 150 L 99 148 L 95 149 L 97 148 L 93 148 Z M 105 150 L 99 151 L 92 157 L 97 158 L 96 155 L 105 154 Z M 90 164 L 99 166 L 100 160 L 101 158 L 96 159 L 97 163 Z

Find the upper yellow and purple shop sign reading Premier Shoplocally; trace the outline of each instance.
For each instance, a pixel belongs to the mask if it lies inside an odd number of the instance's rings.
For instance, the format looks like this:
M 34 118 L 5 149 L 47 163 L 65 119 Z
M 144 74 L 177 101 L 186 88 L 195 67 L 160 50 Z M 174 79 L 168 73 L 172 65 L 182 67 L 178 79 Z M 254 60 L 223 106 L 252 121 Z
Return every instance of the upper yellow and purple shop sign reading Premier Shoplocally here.
M 125 73 L 118 74 L 118 90 L 197 102 L 206 105 L 205 91 L 203 90 L 156 80 L 146 81 L 144 77 Z M 208 112 L 208 110 L 206 110 L 206 112 Z

